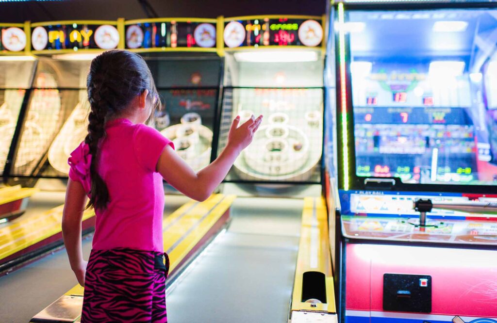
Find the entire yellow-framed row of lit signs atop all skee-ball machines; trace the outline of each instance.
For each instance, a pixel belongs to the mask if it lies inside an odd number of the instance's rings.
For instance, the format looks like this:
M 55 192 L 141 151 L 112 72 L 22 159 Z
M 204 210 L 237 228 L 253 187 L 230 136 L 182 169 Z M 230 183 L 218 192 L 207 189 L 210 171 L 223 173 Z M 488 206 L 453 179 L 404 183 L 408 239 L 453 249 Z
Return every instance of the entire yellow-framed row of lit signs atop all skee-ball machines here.
M 50 51 L 197 50 L 217 47 L 321 46 L 319 17 L 157 18 L 0 24 L 0 55 Z M 218 30 L 223 28 L 224 30 Z M 219 35 L 218 35 L 219 33 Z M 224 44 L 223 44 L 224 41 Z

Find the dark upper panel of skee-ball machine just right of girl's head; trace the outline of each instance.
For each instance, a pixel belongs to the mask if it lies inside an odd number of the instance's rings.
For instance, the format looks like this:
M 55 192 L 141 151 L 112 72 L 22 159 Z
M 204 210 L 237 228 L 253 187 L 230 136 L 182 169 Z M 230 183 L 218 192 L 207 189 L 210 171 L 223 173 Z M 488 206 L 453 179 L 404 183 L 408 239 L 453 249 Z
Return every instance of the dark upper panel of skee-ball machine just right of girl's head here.
M 145 57 L 157 87 L 219 86 L 221 60 L 212 57 Z

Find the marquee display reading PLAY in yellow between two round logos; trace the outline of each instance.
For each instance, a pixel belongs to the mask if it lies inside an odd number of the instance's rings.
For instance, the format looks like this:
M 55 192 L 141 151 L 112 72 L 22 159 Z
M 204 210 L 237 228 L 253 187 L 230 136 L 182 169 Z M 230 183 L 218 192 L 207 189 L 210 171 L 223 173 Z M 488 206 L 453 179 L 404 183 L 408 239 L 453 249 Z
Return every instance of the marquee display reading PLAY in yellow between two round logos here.
M 36 24 L 35 24 L 36 25 Z M 31 49 L 80 50 L 114 49 L 120 36 L 115 25 L 110 24 L 53 24 L 31 28 Z

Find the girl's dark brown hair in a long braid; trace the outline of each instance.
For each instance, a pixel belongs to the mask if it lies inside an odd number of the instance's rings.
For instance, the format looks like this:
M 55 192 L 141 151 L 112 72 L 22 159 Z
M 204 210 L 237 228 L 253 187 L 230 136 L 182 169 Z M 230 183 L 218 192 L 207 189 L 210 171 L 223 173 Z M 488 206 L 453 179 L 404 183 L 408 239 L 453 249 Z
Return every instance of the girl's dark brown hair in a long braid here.
M 110 200 L 107 185 L 97 172 L 98 147 L 105 136 L 105 121 L 121 114 L 134 97 L 149 90 L 148 98 L 156 104 L 158 93 L 152 73 L 138 54 L 122 50 L 104 52 L 91 61 L 86 79 L 88 101 L 88 135 L 84 142 L 91 154 L 91 190 L 88 207 L 102 209 Z M 157 106 L 156 106 L 157 108 Z

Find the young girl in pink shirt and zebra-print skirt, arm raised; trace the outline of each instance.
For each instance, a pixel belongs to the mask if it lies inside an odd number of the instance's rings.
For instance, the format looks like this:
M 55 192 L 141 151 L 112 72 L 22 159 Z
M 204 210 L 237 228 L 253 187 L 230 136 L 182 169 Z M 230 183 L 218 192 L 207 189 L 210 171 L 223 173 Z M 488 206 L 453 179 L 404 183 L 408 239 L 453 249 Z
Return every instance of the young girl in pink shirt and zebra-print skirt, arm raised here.
M 163 178 L 195 200 L 207 199 L 252 141 L 262 116 L 240 127 L 235 118 L 226 148 L 195 173 L 170 140 L 144 125 L 160 101 L 142 57 L 105 52 L 91 62 L 86 85 L 88 135 L 69 158 L 62 218 L 71 268 L 84 286 L 81 321 L 167 322 Z M 88 262 L 81 249 L 87 197 L 96 214 Z

